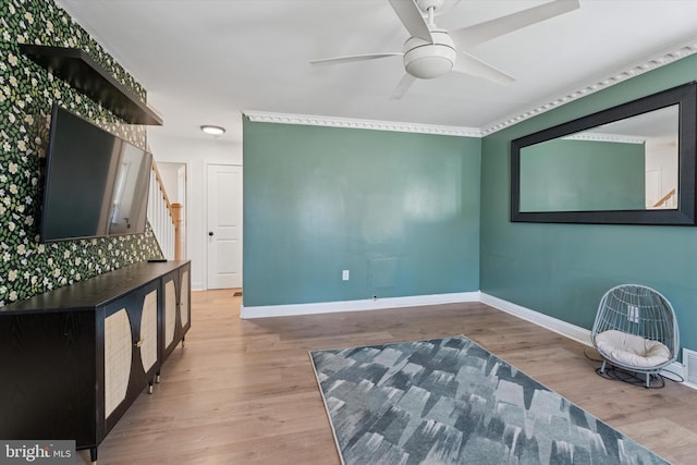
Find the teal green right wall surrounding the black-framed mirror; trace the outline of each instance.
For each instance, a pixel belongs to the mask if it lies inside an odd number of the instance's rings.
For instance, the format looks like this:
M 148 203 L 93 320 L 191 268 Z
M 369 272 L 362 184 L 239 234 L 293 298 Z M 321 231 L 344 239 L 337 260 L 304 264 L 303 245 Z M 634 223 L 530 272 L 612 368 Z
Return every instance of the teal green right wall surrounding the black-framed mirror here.
M 697 56 L 690 56 L 485 137 L 482 292 L 590 329 L 609 287 L 649 285 L 673 304 L 683 345 L 697 348 L 697 228 L 509 221 L 512 139 L 696 76 Z

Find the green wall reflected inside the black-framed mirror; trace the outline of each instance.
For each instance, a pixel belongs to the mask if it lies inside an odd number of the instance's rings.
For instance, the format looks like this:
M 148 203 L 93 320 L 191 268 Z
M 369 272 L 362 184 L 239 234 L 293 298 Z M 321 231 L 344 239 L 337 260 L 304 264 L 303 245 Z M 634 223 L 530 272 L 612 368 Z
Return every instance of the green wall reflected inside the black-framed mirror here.
M 644 210 L 644 144 L 553 139 L 521 149 L 521 211 Z

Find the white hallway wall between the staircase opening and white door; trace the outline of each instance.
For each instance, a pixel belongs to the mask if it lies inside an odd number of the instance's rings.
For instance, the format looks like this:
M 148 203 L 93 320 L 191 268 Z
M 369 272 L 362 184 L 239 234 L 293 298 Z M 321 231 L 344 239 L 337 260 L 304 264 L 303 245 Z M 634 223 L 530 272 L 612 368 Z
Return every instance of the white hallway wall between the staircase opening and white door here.
M 194 290 L 206 289 L 206 167 L 209 163 L 242 166 L 242 137 L 229 140 L 225 136 L 219 139 L 181 138 L 160 136 L 157 130 L 148 132 L 148 145 L 156 162 L 186 163 L 186 258 L 192 260 Z

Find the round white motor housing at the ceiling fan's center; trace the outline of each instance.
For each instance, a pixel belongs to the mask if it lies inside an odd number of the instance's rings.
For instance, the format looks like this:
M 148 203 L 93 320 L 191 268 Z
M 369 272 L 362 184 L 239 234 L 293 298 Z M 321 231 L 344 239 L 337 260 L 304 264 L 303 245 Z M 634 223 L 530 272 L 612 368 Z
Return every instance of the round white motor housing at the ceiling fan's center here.
M 433 44 L 419 37 L 404 42 L 404 69 L 414 77 L 431 79 L 450 72 L 457 51 L 445 30 L 431 30 Z

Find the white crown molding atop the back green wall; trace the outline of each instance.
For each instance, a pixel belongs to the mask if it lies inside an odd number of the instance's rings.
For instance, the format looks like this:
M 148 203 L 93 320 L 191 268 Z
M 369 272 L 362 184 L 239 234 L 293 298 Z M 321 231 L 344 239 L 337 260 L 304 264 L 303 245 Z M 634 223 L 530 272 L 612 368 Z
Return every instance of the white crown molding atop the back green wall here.
M 436 124 L 402 123 L 394 121 L 359 120 L 354 118 L 318 117 L 311 114 L 243 111 L 249 121 L 308 126 L 348 127 L 354 130 L 396 131 L 402 133 L 438 134 L 458 137 L 481 137 L 476 127 L 439 126 Z

